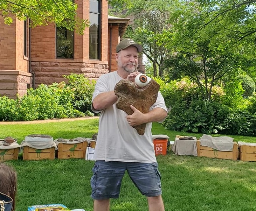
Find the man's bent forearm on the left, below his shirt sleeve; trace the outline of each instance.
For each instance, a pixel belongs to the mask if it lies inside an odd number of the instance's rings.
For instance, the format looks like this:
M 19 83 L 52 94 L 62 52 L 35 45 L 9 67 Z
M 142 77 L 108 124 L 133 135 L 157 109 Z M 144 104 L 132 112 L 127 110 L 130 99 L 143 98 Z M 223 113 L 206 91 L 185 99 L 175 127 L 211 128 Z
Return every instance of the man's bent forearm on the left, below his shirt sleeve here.
M 102 109 L 113 105 L 114 103 L 116 103 L 116 101 L 117 101 L 117 96 L 115 95 L 114 91 L 105 92 L 105 93 L 98 94 L 94 98 L 92 102 L 92 106 L 94 107 L 95 110 L 101 111 Z

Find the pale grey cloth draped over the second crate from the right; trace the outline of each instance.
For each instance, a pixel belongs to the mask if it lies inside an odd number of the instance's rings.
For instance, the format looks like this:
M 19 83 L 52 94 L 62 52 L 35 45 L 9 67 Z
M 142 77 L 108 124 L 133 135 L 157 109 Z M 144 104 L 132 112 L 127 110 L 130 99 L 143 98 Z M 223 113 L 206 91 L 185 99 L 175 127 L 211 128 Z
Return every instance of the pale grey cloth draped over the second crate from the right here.
M 211 147 L 218 151 L 230 151 L 233 150 L 233 138 L 228 136 L 212 137 L 211 135 L 203 134 L 200 138 L 200 145 Z

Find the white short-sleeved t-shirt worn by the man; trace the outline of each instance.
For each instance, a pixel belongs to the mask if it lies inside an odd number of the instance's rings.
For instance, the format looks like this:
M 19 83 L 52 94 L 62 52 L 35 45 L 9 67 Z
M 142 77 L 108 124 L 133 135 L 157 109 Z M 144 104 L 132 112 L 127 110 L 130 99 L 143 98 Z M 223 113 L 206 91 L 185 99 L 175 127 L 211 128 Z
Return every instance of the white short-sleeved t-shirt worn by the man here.
M 94 98 L 101 93 L 113 91 L 115 85 L 121 78 L 117 71 L 102 75 L 97 80 L 92 96 Z M 167 111 L 164 98 L 158 92 L 157 101 L 150 108 L 163 108 Z M 99 129 L 97 135 L 94 160 L 122 161 L 122 162 L 156 162 L 154 145 L 152 141 L 152 123 L 147 123 L 144 135 L 139 135 L 126 120 L 127 114 L 119 110 L 116 104 L 97 111 L 101 112 L 99 117 Z

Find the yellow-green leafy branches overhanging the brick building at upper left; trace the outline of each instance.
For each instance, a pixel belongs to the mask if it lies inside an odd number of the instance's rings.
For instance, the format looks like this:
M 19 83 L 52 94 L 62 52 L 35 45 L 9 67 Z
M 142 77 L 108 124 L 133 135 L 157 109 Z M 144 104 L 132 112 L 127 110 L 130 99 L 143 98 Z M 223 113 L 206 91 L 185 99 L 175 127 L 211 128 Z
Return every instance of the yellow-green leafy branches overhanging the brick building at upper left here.
M 89 26 L 88 20 L 76 15 L 77 4 L 72 0 L 1 0 L 0 15 L 6 24 L 11 24 L 13 15 L 19 20 L 30 19 L 30 26 L 45 26 L 55 23 L 58 27 L 76 30 L 82 34 Z

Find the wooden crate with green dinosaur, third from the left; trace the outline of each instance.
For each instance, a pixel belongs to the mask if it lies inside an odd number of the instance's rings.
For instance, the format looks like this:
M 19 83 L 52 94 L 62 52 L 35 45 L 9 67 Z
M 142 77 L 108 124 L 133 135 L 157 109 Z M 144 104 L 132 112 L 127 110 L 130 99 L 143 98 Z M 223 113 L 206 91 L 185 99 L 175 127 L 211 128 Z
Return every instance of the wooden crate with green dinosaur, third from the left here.
M 87 141 L 74 144 L 59 143 L 58 159 L 85 158 L 85 151 L 87 146 Z

